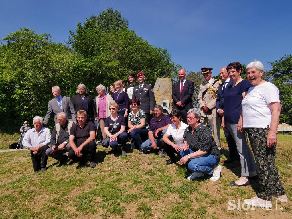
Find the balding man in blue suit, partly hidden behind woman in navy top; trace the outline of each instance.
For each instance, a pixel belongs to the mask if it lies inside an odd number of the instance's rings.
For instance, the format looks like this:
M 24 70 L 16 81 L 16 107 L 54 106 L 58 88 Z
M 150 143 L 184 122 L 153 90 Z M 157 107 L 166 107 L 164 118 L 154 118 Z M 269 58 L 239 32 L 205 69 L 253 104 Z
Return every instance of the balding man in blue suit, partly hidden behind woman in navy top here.
M 224 96 L 227 92 L 228 88 L 234 84 L 234 82 L 228 76 L 226 67 L 220 69 L 220 77 L 224 81 L 223 84 L 219 85 L 217 99 L 216 99 L 216 111 L 223 117 L 224 113 Z M 227 164 L 229 167 L 237 167 L 240 166 L 240 158 L 237 152 L 236 143 L 232 138 L 228 129 L 224 131 L 224 135 L 227 141 L 227 145 L 229 148 L 229 158 L 227 160 L 221 160 L 222 163 Z

